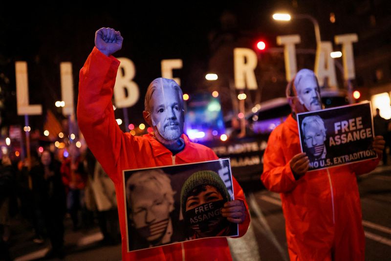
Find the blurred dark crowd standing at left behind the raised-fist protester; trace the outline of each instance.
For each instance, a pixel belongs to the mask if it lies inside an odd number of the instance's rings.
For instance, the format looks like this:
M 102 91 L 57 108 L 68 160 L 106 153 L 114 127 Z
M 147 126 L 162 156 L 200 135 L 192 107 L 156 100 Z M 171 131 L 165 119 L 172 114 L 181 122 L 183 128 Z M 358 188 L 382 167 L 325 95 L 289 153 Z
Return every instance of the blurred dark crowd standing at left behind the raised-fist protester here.
M 6 154 L 0 167 L 0 260 L 11 260 L 11 219 L 20 218 L 34 230 L 37 244 L 51 243 L 46 258 L 63 258 L 64 219 L 73 230 L 99 225 L 103 244 L 120 242 L 114 184 L 89 149 L 75 146 L 56 156 L 44 149 L 30 158 L 12 161 Z

